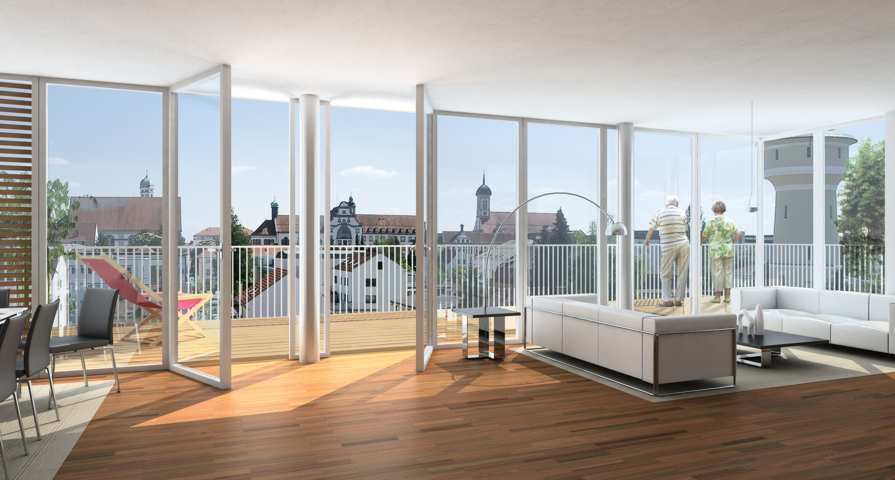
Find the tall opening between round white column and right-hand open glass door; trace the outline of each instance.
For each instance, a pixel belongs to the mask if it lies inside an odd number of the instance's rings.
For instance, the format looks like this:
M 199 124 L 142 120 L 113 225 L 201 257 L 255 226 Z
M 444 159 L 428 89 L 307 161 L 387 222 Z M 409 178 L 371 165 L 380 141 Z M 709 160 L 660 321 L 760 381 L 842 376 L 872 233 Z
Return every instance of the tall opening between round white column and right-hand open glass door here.
M 415 118 L 332 108 L 332 352 L 416 342 Z

